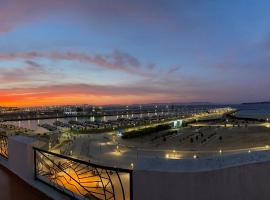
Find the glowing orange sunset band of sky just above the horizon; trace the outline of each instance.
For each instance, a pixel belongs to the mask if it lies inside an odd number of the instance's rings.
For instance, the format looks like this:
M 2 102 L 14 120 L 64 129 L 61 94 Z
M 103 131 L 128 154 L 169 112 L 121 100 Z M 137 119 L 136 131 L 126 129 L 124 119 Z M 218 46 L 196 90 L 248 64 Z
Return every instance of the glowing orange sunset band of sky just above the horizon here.
M 66 104 L 133 104 L 175 102 L 170 91 L 135 86 L 57 85 L 28 89 L 0 89 L 1 106 L 41 106 Z M 186 100 L 183 99 L 182 100 Z

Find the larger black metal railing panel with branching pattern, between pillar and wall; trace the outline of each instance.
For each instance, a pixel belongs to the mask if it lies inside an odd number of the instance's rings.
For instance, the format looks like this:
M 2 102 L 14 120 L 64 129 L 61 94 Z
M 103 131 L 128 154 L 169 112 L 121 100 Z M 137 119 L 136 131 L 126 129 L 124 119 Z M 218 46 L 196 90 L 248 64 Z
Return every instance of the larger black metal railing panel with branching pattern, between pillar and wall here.
M 74 199 L 132 200 L 132 171 L 34 148 L 35 178 Z

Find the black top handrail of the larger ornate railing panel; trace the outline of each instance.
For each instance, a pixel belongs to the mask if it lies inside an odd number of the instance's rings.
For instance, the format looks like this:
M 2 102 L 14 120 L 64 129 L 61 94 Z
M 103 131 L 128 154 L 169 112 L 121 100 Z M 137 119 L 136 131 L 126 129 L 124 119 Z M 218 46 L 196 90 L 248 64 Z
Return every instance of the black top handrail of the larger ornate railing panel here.
M 131 170 L 131 169 L 124 169 L 124 168 L 119 168 L 119 167 L 110 167 L 110 166 L 99 165 L 99 164 L 87 162 L 87 161 L 84 161 L 84 160 L 76 159 L 76 158 L 73 158 L 73 157 L 61 155 L 61 154 L 58 154 L 58 153 L 50 152 L 50 151 L 40 149 L 40 148 L 37 148 L 37 147 L 33 147 L 33 149 L 36 150 L 36 151 L 40 151 L 40 152 L 44 152 L 44 153 L 47 153 L 47 154 L 54 155 L 54 156 L 59 157 L 59 158 L 71 160 L 71 161 L 81 163 L 81 164 L 85 164 L 85 165 L 89 165 L 91 167 L 96 167 L 96 168 L 101 168 L 101 169 L 106 169 L 106 170 L 111 170 L 111 171 L 117 171 L 117 172 L 125 172 L 125 173 L 129 173 L 129 174 L 132 174 L 132 172 L 133 172 L 133 170 Z

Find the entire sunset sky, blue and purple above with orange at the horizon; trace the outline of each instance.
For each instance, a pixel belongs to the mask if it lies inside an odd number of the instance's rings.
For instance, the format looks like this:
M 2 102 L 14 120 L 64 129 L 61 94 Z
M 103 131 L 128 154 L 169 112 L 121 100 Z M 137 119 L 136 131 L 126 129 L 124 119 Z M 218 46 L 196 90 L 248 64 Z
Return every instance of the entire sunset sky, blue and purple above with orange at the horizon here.
M 0 0 L 0 106 L 270 100 L 270 2 Z

